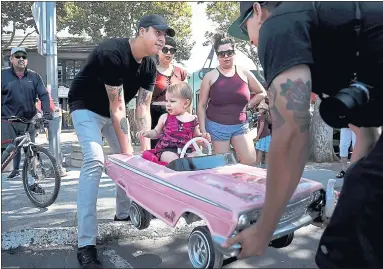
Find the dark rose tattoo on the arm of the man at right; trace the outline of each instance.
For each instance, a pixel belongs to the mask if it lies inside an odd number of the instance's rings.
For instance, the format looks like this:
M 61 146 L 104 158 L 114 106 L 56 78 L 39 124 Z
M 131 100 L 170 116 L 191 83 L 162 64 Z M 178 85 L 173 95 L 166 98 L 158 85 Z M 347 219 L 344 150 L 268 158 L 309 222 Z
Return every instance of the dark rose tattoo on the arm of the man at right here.
M 295 122 L 300 126 L 301 132 L 309 132 L 311 81 L 304 82 L 301 78 L 294 81 L 287 79 L 286 83 L 281 84 L 280 95 L 287 101 L 286 109 L 293 111 Z

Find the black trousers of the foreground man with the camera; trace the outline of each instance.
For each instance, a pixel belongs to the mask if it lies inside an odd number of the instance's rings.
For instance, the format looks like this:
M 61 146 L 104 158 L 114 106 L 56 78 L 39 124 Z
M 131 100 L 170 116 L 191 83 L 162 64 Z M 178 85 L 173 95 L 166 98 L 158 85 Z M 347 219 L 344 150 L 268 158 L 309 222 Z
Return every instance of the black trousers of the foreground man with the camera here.
M 319 268 L 383 268 L 383 136 L 347 170 L 315 261 Z

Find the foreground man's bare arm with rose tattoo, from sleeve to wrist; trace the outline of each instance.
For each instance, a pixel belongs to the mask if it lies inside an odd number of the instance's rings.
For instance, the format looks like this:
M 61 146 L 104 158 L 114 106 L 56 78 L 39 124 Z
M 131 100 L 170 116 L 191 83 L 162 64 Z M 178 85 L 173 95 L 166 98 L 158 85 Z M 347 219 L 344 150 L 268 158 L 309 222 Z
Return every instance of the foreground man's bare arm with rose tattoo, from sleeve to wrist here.
M 302 177 L 308 157 L 311 73 L 307 65 L 279 74 L 269 87 L 272 136 L 260 231 L 270 236 Z

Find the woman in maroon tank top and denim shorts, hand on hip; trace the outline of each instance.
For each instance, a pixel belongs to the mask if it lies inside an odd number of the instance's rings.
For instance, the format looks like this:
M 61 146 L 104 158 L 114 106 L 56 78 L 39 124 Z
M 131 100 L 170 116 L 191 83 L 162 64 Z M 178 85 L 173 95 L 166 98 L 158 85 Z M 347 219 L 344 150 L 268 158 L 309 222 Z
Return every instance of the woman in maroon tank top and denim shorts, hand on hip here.
M 266 91 L 249 70 L 234 65 L 234 41 L 225 34 L 214 36 L 219 66 L 202 80 L 198 120 L 202 133 L 209 133 L 216 154 L 233 146 L 239 161 L 255 165 L 256 154 L 248 133 L 246 108 L 258 105 Z M 255 95 L 250 99 L 250 91 Z

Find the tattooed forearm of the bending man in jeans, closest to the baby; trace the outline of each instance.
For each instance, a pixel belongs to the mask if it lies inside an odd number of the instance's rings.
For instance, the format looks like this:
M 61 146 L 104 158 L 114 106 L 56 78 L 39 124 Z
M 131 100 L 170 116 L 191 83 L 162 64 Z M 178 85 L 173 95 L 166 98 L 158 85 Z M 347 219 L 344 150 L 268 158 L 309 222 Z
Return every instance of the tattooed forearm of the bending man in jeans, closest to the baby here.
M 150 115 L 150 103 L 152 101 L 152 92 L 140 88 L 138 91 L 136 102 L 136 122 L 138 131 L 150 130 L 152 118 Z M 150 149 L 150 140 L 148 138 L 141 139 L 141 150 Z

